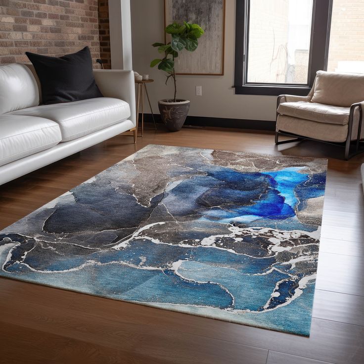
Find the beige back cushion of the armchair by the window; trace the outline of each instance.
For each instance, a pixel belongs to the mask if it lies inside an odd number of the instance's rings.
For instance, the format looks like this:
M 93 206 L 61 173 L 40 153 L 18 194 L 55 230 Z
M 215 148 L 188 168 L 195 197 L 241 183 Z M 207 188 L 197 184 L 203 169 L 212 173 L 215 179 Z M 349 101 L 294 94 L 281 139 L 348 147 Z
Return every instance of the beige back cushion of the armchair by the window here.
M 350 107 L 364 101 L 364 74 L 318 71 L 311 102 Z

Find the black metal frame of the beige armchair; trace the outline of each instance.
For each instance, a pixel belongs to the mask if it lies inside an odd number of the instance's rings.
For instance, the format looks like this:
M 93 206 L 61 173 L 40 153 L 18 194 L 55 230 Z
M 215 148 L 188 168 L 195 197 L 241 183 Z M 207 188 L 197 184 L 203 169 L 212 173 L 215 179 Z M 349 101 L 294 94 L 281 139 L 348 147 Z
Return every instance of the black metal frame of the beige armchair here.
M 285 95 L 279 95 L 277 98 L 277 109 L 278 106 L 282 100 L 282 98 L 285 97 Z M 359 108 L 359 125 L 358 125 L 358 134 L 357 138 L 355 140 L 351 140 L 351 137 L 353 135 L 353 125 L 354 125 L 354 112 L 356 108 Z M 276 113 L 275 121 L 277 121 L 279 113 Z M 344 158 L 345 160 L 349 160 L 350 158 L 356 156 L 357 154 L 364 152 L 364 140 L 360 140 L 360 136 L 362 134 L 362 127 L 363 127 L 363 108 L 362 103 L 358 102 L 350 106 L 350 113 L 349 113 L 349 123 L 348 123 L 348 135 L 346 137 L 346 140 L 344 142 L 334 142 L 334 141 L 325 141 L 320 139 L 315 139 L 311 137 L 304 137 L 301 135 L 293 134 L 284 132 L 281 130 L 276 130 L 275 132 L 275 145 L 279 144 L 285 144 L 285 143 L 292 143 L 295 141 L 302 141 L 302 140 L 314 140 L 314 141 L 320 141 L 322 143 L 326 144 L 332 144 L 336 146 L 340 146 L 345 148 Z M 294 137 L 294 139 L 288 139 L 288 140 L 279 140 L 279 135 L 287 136 L 287 137 Z M 355 151 L 351 152 L 351 146 L 355 145 Z M 363 147 L 361 147 L 363 146 Z

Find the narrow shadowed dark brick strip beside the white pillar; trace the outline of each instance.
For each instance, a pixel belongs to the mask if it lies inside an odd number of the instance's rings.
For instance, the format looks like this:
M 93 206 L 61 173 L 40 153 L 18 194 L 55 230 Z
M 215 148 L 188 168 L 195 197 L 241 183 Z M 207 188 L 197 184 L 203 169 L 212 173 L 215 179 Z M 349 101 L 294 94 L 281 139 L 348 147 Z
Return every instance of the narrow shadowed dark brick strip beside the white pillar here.
M 111 69 L 108 0 L 98 0 L 98 29 L 100 34 L 100 58 L 104 68 Z

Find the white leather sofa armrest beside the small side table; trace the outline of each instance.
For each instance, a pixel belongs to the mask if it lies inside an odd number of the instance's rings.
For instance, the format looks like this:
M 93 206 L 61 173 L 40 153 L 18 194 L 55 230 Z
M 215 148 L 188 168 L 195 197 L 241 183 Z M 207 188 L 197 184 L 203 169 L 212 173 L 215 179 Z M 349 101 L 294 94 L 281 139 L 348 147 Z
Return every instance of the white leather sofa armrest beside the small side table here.
M 96 84 L 105 97 L 119 98 L 128 102 L 131 116 L 136 125 L 135 80 L 133 71 L 93 70 Z

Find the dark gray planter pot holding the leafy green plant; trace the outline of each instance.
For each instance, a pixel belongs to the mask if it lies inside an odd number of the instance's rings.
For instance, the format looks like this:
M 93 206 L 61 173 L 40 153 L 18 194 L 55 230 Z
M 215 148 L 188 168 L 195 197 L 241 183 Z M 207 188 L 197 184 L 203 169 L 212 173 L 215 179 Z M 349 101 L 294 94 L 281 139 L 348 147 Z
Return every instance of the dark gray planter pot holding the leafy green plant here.
M 158 107 L 163 123 L 170 132 L 181 130 L 189 110 L 189 100 L 171 99 L 159 100 Z

